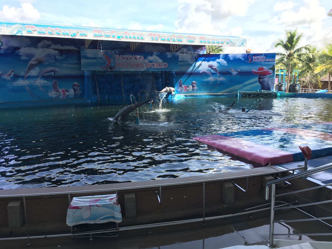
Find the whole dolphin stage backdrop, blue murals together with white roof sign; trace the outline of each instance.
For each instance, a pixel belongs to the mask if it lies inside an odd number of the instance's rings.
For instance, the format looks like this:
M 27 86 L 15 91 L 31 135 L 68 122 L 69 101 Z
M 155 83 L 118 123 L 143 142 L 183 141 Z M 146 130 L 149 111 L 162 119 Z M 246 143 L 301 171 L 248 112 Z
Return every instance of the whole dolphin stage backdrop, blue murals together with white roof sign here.
M 207 53 L 207 45 L 244 47 L 245 38 L 11 22 L 0 34 L 3 107 L 151 98 L 165 87 L 178 95 L 274 90 L 275 53 Z

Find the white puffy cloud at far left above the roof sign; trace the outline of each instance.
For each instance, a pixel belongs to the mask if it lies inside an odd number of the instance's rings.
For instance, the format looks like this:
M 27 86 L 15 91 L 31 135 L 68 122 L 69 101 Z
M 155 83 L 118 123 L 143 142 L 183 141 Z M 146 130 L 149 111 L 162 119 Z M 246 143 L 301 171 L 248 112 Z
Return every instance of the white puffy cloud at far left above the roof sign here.
M 41 16 L 31 3 L 21 3 L 21 8 L 4 5 L 2 11 L 0 11 L 0 17 L 4 21 L 35 22 Z

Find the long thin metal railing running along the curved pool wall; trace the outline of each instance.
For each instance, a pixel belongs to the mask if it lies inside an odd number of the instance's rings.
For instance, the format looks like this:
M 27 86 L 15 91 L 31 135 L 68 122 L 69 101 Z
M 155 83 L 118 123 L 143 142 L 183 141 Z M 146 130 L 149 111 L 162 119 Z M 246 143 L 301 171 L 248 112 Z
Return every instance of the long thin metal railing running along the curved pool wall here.
M 271 171 L 271 172 L 263 172 L 263 173 L 256 173 L 256 174 L 251 174 L 251 175 L 242 175 L 242 176 L 233 176 L 233 177 L 223 177 L 223 178 L 217 178 L 217 179 L 204 179 L 204 180 L 197 180 L 197 181 L 188 181 L 188 182 L 177 182 L 177 183 L 164 183 L 164 184 L 153 184 L 153 181 L 151 181 L 150 185 L 142 185 L 142 186 L 135 186 L 135 187 L 122 187 L 122 188 L 112 188 L 112 189 L 99 189 L 99 190 L 83 190 L 83 191 L 64 191 L 64 192 L 49 192 L 49 193 L 35 193 L 35 194 L 18 194 L 18 195 L 0 195 L 0 198 L 12 198 L 12 197 L 20 197 L 23 198 L 23 211 L 24 211 L 24 220 L 26 223 L 26 233 L 27 236 L 23 237 L 5 237 L 5 238 L 0 238 L 1 240 L 14 240 L 14 239 L 27 239 L 28 240 L 28 245 L 30 245 L 30 239 L 31 238 L 49 238 L 49 237 L 61 237 L 61 236 L 82 236 L 82 235 L 90 235 L 91 234 L 99 234 L 99 233 L 108 233 L 108 232 L 118 232 L 118 231 L 124 231 L 124 230 L 132 230 L 132 229 L 140 229 L 140 228 L 151 228 L 151 227 L 159 227 L 159 226 L 167 226 L 167 225 L 176 225 L 176 224 L 184 224 L 184 223 L 190 223 L 190 222 L 198 222 L 202 221 L 202 225 L 205 224 L 206 220 L 212 220 L 212 219 L 219 219 L 219 218 L 225 218 L 225 217 L 232 217 L 232 216 L 237 216 L 237 215 L 243 215 L 247 213 L 252 213 L 252 212 L 259 212 L 259 211 L 265 211 L 269 210 L 270 207 L 268 208 L 262 208 L 258 210 L 253 210 L 253 211 L 246 211 L 246 212 L 241 212 L 241 213 L 236 213 L 236 214 L 227 214 L 227 215 L 219 215 L 219 216 L 213 216 L 213 217 L 205 217 L 205 183 L 207 182 L 215 182 L 215 181 L 222 181 L 222 180 L 235 180 L 235 179 L 241 179 L 241 178 L 247 178 L 247 184 L 249 181 L 249 177 L 256 177 L 256 176 L 265 176 L 265 175 L 273 175 L 276 173 L 282 173 L 282 172 L 290 172 L 294 174 L 295 170 L 298 169 L 304 169 L 305 166 L 302 167 L 296 167 L 292 169 L 285 169 L 285 170 L 276 170 L 276 171 Z M 121 190 L 135 190 L 135 189 L 141 189 L 141 188 L 159 188 L 159 191 L 154 191 L 154 194 L 157 196 L 157 201 L 161 205 L 161 187 L 162 186 L 175 186 L 175 185 L 186 185 L 186 184 L 198 184 L 202 183 L 203 184 L 203 215 L 202 218 L 196 218 L 196 219 L 187 219 L 187 220 L 177 220 L 177 221 L 170 221 L 170 222 L 161 222 L 161 223 L 149 223 L 149 224 L 143 224 L 143 225 L 132 225 L 132 226 L 124 226 L 124 227 L 119 227 L 119 224 L 117 223 L 117 228 L 110 228 L 110 229 L 103 229 L 103 230 L 96 230 L 96 231 L 88 231 L 88 232 L 73 232 L 73 228 L 71 227 L 70 233 L 62 233 L 62 234 L 49 234 L 49 235 L 37 235 L 37 236 L 30 236 L 29 235 L 29 227 L 27 223 L 27 206 L 26 206 L 26 197 L 34 197 L 34 196 L 49 196 L 49 195 L 68 195 L 68 205 L 70 205 L 71 202 L 71 194 L 90 194 L 90 193 L 98 193 L 98 192 L 116 192 L 118 195 L 118 192 Z M 247 187 L 248 190 L 248 187 Z M 279 201 L 281 202 L 281 201 Z M 285 202 L 282 202 L 285 203 Z M 292 203 L 285 203 L 284 205 L 280 205 L 278 207 L 284 207 L 284 206 L 289 206 L 292 204 L 297 203 L 292 202 Z M 265 204 L 264 204 L 265 205 Z M 264 206 L 261 205 L 261 206 Z M 260 207 L 260 206 L 257 206 Z M 249 208 L 251 209 L 251 208 Z M 246 209 L 247 210 L 247 209 Z

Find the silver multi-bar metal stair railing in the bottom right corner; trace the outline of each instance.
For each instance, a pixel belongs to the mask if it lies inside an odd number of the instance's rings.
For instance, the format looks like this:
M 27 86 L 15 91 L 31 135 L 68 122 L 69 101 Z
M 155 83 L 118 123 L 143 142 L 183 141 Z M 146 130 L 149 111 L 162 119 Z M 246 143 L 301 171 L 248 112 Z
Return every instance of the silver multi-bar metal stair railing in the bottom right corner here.
M 311 206 L 311 205 L 331 203 L 332 200 L 328 200 L 328 201 L 322 201 L 322 202 L 300 204 L 300 205 L 291 206 L 291 207 L 275 207 L 275 199 L 277 197 L 282 197 L 282 196 L 296 194 L 296 193 L 300 193 L 300 192 L 304 192 L 304 191 L 309 191 L 309 190 L 324 188 L 324 187 L 327 187 L 327 186 L 332 186 L 332 183 L 329 183 L 329 184 L 324 184 L 324 185 L 320 185 L 320 186 L 316 186 L 316 187 L 312 187 L 312 188 L 301 189 L 301 190 L 296 190 L 296 191 L 276 195 L 275 192 L 276 192 L 276 185 L 277 184 L 284 183 L 286 181 L 290 181 L 290 180 L 300 178 L 300 177 L 306 177 L 308 175 L 318 173 L 318 172 L 321 172 L 321 171 L 324 171 L 324 170 L 328 170 L 328 169 L 331 169 L 331 168 L 332 168 L 332 163 L 328 163 L 328 164 L 322 165 L 320 167 L 298 173 L 296 175 L 290 175 L 290 176 L 286 176 L 286 177 L 268 182 L 265 185 L 265 188 L 266 188 L 265 189 L 265 199 L 266 200 L 269 200 L 269 186 L 271 186 L 270 238 L 269 238 L 269 244 L 268 244 L 269 247 L 272 247 L 272 248 L 275 247 L 274 242 L 273 242 L 274 235 L 298 235 L 298 236 L 301 236 L 301 235 L 307 235 L 307 236 L 308 235 L 309 236 L 310 235 L 332 235 L 332 233 L 296 233 L 296 234 L 295 233 L 293 233 L 293 234 L 274 233 L 274 223 L 277 223 L 277 222 L 297 222 L 297 221 L 319 220 L 322 223 L 324 223 L 325 225 L 328 225 L 328 226 L 332 227 L 332 225 L 330 225 L 330 224 L 323 221 L 324 219 L 332 219 L 332 217 L 316 218 L 313 215 L 310 215 L 312 218 L 309 218 L 309 219 L 294 219 L 294 220 L 279 220 L 279 221 L 274 220 L 274 212 L 276 210 L 283 210 L 283 209 L 287 209 L 287 208 L 296 208 L 296 209 L 298 209 L 298 207 L 306 207 L 306 206 Z M 300 210 L 300 209 L 298 209 L 298 210 Z

